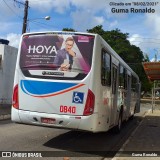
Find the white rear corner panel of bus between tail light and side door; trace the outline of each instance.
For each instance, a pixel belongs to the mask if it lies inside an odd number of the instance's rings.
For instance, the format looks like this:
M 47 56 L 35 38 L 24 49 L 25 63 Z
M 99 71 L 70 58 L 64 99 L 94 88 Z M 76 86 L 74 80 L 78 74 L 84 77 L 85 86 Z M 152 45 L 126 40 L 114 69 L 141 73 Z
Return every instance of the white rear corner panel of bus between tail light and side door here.
M 81 129 L 82 126 L 86 128 L 90 124 L 88 129 L 93 132 L 104 132 L 109 129 L 111 94 L 110 88 L 101 84 L 102 41 L 99 37 L 96 37 L 95 44 L 92 59 L 94 65 L 92 65 L 89 83 L 89 88 L 95 95 L 94 114 L 90 118 L 83 117 L 84 123 L 81 121 L 79 128 Z

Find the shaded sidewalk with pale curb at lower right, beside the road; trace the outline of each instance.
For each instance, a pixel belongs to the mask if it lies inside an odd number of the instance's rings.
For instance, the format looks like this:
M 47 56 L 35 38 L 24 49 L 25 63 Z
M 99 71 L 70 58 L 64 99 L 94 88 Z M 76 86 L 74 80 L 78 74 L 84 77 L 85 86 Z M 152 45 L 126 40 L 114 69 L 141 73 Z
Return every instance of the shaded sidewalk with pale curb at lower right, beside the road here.
M 160 110 L 150 110 L 112 160 L 160 160 Z

